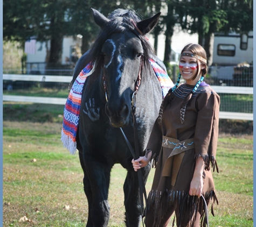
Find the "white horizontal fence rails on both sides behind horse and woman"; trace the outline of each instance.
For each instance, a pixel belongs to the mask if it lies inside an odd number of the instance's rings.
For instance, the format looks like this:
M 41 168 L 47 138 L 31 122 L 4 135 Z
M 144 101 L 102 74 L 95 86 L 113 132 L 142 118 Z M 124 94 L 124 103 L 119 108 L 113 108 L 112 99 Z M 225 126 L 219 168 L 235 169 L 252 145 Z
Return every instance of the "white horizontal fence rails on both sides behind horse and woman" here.
M 72 76 L 3 74 L 3 80 L 70 83 L 70 81 L 72 80 Z M 217 93 L 253 95 L 252 87 L 239 87 L 239 89 L 238 87 L 227 87 L 227 86 L 211 86 L 211 87 Z M 66 98 L 3 95 L 3 101 L 65 105 Z M 253 113 L 220 111 L 219 118 L 237 119 L 237 120 L 253 120 Z

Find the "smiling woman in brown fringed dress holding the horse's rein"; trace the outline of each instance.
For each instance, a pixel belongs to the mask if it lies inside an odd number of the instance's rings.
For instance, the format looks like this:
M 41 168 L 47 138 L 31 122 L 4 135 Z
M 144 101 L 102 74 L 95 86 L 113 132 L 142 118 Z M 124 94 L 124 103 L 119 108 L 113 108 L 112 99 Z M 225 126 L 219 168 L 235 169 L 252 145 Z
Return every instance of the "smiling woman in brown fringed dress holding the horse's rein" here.
M 146 227 L 167 226 L 175 212 L 177 226 L 206 226 L 206 203 L 217 202 L 210 167 L 217 168 L 220 98 L 203 82 L 206 53 L 198 44 L 186 45 L 179 76 L 161 105 L 144 157 L 132 160 L 134 170 L 153 160 L 156 167 L 147 199 Z M 181 76 L 185 83 L 181 86 Z M 213 214 L 213 209 L 212 209 Z

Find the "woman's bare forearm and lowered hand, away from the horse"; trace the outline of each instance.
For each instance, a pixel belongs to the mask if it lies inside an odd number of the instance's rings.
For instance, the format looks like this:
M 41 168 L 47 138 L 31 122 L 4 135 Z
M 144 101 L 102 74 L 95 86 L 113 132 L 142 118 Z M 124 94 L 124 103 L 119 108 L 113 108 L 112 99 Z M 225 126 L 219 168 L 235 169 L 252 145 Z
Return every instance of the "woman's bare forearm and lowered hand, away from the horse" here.
M 202 157 L 197 159 L 196 167 L 193 174 L 192 181 L 190 183 L 189 195 L 198 196 L 202 195 L 203 190 L 203 172 L 204 172 L 204 160 Z

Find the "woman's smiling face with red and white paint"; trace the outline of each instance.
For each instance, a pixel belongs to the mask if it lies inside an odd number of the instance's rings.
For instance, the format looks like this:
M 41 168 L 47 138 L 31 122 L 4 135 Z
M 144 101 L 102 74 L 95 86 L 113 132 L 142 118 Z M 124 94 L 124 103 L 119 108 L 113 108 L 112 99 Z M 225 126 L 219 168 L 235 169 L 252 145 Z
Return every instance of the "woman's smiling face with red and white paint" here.
M 191 51 L 185 51 L 183 53 L 192 54 Z M 187 84 L 196 85 L 197 81 L 200 79 L 200 72 L 197 70 L 198 67 L 200 67 L 200 62 L 195 58 L 192 58 L 191 56 L 181 56 L 181 59 L 179 60 L 179 72 Z M 198 75 L 193 80 L 192 78 L 196 75 L 197 72 Z

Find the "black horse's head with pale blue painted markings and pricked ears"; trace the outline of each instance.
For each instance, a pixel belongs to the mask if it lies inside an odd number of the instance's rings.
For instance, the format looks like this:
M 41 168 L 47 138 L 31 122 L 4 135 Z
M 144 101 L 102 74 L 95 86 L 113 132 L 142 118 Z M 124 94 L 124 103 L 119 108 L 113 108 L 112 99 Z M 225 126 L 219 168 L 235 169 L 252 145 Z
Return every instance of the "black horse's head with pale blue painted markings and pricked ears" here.
M 106 114 L 110 125 L 127 126 L 136 81 L 146 70 L 153 53 L 144 35 L 154 28 L 160 13 L 140 21 L 133 10 L 116 10 L 108 18 L 92 11 L 95 23 L 102 30 L 91 53 L 95 55 L 96 65 L 102 68 L 102 83 L 107 93 Z

